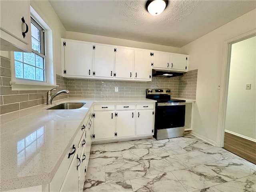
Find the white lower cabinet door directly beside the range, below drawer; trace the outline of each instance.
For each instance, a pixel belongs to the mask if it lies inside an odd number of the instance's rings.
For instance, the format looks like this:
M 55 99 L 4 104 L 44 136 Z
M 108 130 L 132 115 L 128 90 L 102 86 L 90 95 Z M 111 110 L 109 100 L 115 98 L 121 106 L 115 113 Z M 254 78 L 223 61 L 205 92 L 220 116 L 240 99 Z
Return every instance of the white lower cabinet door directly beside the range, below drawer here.
M 153 110 L 137 110 L 136 112 L 136 135 L 151 134 L 153 129 Z

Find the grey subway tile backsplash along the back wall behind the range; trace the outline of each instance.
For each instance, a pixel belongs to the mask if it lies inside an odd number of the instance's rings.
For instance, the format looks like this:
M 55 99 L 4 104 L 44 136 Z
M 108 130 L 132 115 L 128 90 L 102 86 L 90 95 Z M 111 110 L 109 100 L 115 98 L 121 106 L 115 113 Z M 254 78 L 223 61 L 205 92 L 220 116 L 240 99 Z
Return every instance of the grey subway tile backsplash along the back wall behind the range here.
M 152 82 L 68 79 L 68 97 L 78 98 L 145 98 L 147 88 L 170 88 L 178 97 L 178 77 L 152 78 Z M 118 92 L 115 92 L 118 87 Z

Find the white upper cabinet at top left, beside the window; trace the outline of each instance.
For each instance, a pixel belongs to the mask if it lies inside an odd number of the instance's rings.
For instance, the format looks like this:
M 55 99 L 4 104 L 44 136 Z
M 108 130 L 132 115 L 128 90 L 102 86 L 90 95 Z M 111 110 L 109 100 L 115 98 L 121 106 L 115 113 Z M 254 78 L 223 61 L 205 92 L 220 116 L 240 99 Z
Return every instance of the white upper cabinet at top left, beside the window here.
M 31 52 L 30 1 L 0 1 L 0 7 L 1 50 Z

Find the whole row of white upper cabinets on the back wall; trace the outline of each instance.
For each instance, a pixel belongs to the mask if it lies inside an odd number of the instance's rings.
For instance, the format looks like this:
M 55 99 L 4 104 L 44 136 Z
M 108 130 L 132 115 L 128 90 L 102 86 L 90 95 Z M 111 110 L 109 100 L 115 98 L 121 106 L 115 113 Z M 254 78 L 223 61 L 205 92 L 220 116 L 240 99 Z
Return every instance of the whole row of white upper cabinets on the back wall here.
M 67 78 L 151 81 L 152 68 L 187 72 L 188 55 L 62 39 Z M 62 42 L 62 43 L 63 43 Z

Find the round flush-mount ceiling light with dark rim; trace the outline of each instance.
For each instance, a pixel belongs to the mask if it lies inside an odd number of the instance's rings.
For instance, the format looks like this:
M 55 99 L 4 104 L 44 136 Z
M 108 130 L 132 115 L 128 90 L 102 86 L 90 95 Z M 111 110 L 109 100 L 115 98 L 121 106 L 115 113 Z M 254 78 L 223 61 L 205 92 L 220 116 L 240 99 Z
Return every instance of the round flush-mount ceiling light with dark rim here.
M 151 0 L 146 2 L 146 10 L 153 16 L 161 14 L 166 6 L 168 5 L 168 1 L 164 0 Z

